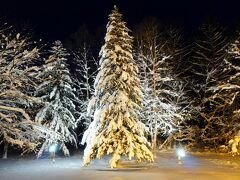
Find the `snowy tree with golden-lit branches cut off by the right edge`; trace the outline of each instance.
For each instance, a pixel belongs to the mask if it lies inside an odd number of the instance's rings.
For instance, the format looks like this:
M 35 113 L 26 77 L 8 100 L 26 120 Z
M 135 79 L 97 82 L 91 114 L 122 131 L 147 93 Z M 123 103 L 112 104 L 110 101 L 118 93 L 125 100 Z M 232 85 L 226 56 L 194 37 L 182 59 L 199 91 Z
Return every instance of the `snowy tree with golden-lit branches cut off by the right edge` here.
M 240 142 L 240 43 L 238 40 L 230 44 L 227 53 L 228 56 L 219 69 L 219 72 L 224 73 L 224 78 L 212 89 L 213 95 L 209 100 L 216 104 L 218 111 L 226 114 L 222 137 L 225 141 L 231 139 L 228 145 L 231 153 L 235 155 L 239 153 Z M 222 143 L 227 144 L 227 142 Z

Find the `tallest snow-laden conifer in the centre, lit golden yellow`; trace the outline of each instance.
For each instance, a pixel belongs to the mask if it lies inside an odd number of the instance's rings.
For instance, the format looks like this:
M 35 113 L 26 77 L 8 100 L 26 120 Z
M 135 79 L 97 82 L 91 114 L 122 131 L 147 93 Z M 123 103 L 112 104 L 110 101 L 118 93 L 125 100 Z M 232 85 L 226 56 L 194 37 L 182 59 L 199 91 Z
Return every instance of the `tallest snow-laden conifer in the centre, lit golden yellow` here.
M 82 143 L 87 143 L 85 165 L 105 154 L 112 155 L 111 168 L 117 166 L 121 156 L 135 157 L 139 162 L 153 160 L 144 137 L 144 125 L 138 121 L 142 92 L 129 31 L 114 7 L 100 51 L 100 71 L 90 103 L 95 111 L 94 120 L 82 139 Z

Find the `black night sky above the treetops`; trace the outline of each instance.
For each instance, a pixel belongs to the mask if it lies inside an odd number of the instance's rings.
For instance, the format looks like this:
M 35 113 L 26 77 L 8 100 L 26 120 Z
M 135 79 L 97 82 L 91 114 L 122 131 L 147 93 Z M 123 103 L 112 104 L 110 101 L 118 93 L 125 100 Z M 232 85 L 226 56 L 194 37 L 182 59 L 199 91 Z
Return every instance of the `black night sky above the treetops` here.
M 240 0 L 5 0 L 0 4 L 4 21 L 29 23 L 47 39 L 65 39 L 83 23 L 91 29 L 106 25 L 116 4 L 130 27 L 146 16 L 165 23 L 182 24 L 188 30 L 204 19 L 233 27 L 240 22 Z

